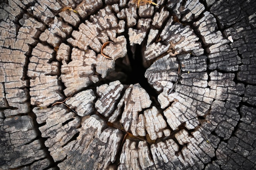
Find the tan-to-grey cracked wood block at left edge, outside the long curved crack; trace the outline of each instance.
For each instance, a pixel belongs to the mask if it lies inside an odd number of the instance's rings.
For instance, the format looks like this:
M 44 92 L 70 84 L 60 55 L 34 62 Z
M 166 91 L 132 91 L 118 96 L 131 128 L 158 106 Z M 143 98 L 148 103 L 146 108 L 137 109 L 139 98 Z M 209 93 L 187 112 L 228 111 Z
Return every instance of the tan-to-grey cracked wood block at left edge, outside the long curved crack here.
M 18 110 L 6 109 L 5 116 L 27 113 L 29 103 L 27 102 L 28 81 L 22 79 L 24 76 L 25 54 L 18 50 L 2 49 L 0 57 L 0 82 L 4 88 L 2 91 L 2 107 L 17 107 Z

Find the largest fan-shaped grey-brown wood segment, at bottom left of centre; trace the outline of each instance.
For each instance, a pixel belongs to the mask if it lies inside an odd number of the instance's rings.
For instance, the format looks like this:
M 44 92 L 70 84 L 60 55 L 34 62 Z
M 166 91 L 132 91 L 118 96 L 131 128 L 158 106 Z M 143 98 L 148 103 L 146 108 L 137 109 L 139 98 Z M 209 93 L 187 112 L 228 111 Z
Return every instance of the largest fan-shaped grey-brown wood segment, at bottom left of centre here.
M 39 129 L 43 137 L 48 137 L 45 145 L 54 161 L 64 160 L 58 164 L 61 169 L 100 170 L 115 162 L 122 137 L 120 130 L 104 130 L 106 123 L 99 117 L 94 115 L 81 120 L 63 106 L 34 108 L 33 111 L 38 121 L 46 122 Z

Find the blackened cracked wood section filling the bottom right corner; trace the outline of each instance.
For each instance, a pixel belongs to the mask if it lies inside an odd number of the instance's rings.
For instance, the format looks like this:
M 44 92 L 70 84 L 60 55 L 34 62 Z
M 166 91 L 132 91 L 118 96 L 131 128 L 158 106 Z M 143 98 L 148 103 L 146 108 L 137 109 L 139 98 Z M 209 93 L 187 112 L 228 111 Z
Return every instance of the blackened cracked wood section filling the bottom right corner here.
M 240 110 L 242 115 L 240 120 L 242 122 L 238 124 L 238 130 L 235 132 L 236 137 L 229 139 L 227 144 L 222 143 L 216 152 L 218 158 L 216 162 L 224 166 L 224 168 L 245 167 L 250 169 L 254 167 L 256 109 L 242 106 Z

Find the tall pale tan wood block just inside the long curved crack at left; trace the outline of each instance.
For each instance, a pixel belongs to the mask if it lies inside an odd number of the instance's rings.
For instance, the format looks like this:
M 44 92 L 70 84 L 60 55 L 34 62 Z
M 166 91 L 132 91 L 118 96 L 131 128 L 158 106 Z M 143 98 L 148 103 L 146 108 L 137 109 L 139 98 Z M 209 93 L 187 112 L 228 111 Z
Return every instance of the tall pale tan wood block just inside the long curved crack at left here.
M 49 62 L 53 59 L 54 50 L 49 46 L 38 43 L 29 59 L 28 76 L 30 79 L 31 104 L 49 106 L 62 98 L 61 86 L 58 84 L 58 62 Z

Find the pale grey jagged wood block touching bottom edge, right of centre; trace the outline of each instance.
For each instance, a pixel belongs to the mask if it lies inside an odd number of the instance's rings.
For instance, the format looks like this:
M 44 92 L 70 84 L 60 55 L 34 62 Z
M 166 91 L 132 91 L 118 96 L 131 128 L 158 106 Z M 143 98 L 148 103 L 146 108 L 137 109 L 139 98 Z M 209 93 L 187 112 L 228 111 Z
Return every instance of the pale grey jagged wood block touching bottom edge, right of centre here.
M 204 163 L 211 161 L 214 148 L 207 143 L 202 130 L 193 132 L 190 136 L 186 130 L 176 133 L 175 138 L 184 145 L 181 152 L 173 139 L 151 145 L 151 152 L 158 169 L 172 168 L 175 170 L 204 168 Z

